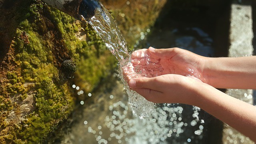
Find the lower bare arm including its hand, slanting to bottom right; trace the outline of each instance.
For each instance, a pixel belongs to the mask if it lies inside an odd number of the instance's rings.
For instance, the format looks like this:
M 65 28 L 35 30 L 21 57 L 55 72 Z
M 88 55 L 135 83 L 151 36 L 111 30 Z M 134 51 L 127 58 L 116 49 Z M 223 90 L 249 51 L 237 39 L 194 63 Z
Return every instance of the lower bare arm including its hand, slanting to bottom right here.
M 155 103 L 198 106 L 256 142 L 256 106 L 228 96 L 196 78 L 166 74 L 134 78 L 129 86 Z

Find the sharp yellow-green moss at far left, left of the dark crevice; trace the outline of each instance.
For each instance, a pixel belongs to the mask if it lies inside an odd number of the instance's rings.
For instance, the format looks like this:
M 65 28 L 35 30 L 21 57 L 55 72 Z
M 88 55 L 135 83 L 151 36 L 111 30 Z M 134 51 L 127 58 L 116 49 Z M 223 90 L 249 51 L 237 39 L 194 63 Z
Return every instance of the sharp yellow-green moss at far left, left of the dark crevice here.
M 9 141 L 40 142 L 70 114 L 74 107 L 74 99 L 70 97 L 67 83 L 56 85 L 52 80 L 53 76 L 59 73 L 58 66 L 53 62 L 54 58 L 51 48 L 47 45 L 47 38 L 44 34 L 39 34 L 40 31 L 36 27 L 42 25 L 40 22 L 43 17 L 40 12 L 42 4 L 33 1 L 30 5 L 30 2 L 24 3 L 29 3 L 26 11 L 23 11 L 26 14 L 20 15 L 26 15 L 27 19 L 20 22 L 13 42 L 15 63 L 19 68 L 6 74 L 8 81 L 4 87 L 5 92 L 1 93 L 7 95 L 3 97 L 1 94 L 0 96 L 0 110 L 3 114 L 1 128 L 8 129 L 8 131 L 2 131 L 0 140 L 6 143 Z M 72 41 L 74 38 L 68 39 Z M 35 85 L 27 86 L 28 83 Z M 36 92 L 34 112 L 27 116 L 26 121 L 18 124 L 18 127 L 14 123 L 5 124 L 3 120 L 7 118 L 8 112 L 16 107 L 15 102 L 12 103 L 9 96 L 19 94 L 20 100 L 24 100 L 31 90 Z

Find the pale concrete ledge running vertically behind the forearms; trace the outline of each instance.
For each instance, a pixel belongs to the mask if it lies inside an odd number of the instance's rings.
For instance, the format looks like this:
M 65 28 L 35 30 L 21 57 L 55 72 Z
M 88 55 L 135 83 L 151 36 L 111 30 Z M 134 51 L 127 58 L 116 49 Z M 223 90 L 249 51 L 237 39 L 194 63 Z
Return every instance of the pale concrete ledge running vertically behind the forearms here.
M 250 56 L 253 54 L 252 6 L 232 4 L 230 14 L 229 57 Z M 226 94 L 253 104 L 252 90 L 228 89 Z M 223 128 L 223 144 L 254 144 L 248 137 L 227 124 Z

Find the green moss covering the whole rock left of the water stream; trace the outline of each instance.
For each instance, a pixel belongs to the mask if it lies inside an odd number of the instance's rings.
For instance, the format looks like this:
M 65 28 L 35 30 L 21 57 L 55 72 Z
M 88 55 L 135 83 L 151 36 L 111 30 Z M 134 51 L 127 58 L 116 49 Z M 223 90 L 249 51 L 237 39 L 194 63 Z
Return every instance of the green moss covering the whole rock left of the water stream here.
M 77 66 L 77 83 L 90 92 L 102 78 L 116 67 L 114 56 L 91 27 L 38 0 L 23 0 L 17 10 L 20 23 L 12 42 L 14 70 L 7 72 L 0 92 L 0 126 L 3 143 L 39 143 L 72 112 L 76 97 L 70 84 L 61 80 L 65 73 L 61 63 L 72 60 L 68 69 Z M 44 11 L 42 11 L 44 9 Z M 19 13 L 18 13 L 19 12 Z M 84 28 L 86 41 L 78 40 L 77 33 Z M 62 51 L 60 51 L 62 50 Z M 69 74 L 70 74 L 69 73 Z M 11 110 L 18 108 L 11 97 L 24 100 L 31 92 L 34 110 L 26 120 L 6 123 Z

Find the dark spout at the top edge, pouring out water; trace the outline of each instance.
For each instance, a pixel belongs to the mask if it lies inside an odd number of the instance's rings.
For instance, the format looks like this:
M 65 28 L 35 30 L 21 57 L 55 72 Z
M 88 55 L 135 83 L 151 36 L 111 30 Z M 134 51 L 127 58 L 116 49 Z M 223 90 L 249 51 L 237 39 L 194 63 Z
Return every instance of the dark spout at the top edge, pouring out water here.
M 96 0 L 42 0 L 54 6 L 58 10 L 65 12 L 66 14 L 73 16 L 80 20 L 80 15 L 84 18 L 90 18 L 94 16 L 95 10 L 100 8 L 99 2 Z

